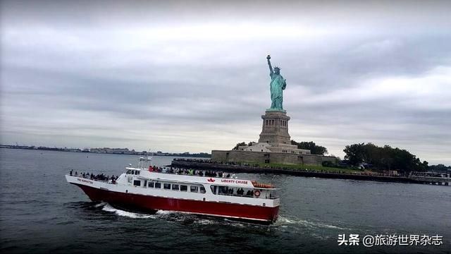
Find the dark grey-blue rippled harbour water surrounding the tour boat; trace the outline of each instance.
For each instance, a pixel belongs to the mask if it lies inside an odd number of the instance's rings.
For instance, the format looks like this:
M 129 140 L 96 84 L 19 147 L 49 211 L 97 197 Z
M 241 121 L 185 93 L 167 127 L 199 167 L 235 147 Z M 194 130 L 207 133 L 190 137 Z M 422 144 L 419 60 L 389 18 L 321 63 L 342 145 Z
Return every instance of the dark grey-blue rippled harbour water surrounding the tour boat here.
M 172 157 L 154 157 L 157 165 Z M 70 169 L 121 174 L 137 156 L 0 149 L 2 253 L 450 253 L 451 187 L 237 174 L 272 181 L 271 226 L 90 202 Z M 338 246 L 338 234 L 438 234 L 442 246 Z

